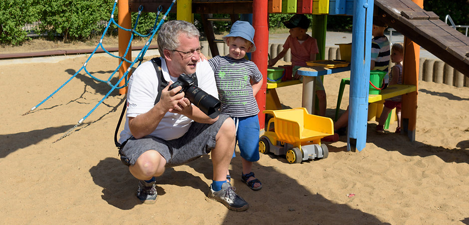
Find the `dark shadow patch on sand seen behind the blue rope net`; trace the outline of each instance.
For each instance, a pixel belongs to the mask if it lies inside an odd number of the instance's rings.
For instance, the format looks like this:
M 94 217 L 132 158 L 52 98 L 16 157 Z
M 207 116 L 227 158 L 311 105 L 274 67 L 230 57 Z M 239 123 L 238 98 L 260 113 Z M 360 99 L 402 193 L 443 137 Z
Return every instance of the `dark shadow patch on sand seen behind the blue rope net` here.
M 68 74 L 70 74 L 71 76 L 73 76 L 75 73 L 76 73 L 76 70 L 74 69 L 66 69 L 65 72 L 67 72 Z M 108 70 L 108 71 L 96 71 L 96 72 L 90 72 L 88 71 L 91 75 L 95 75 L 98 76 L 99 74 L 112 74 L 114 72 L 114 70 Z M 99 77 L 102 77 L 102 76 L 99 76 Z M 103 83 L 103 82 L 100 82 L 100 81 L 97 81 L 95 79 L 93 79 L 92 77 L 89 77 L 88 74 L 86 74 L 86 72 L 84 71 L 80 71 L 80 73 L 78 73 L 75 78 L 81 80 L 84 84 L 85 84 L 85 90 L 86 90 L 86 87 L 91 87 L 93 90 L 96 91 L 96 93 L 99 93 L 99 94 L 102 94 L 102 95 L 106 95 L 110 90 L 111 90 L 111 86 L 108 85 L 107 83 Z M 119 81 L 119 78 L 118 77 L 112 77 L 111 80 L 110 80 L 110 83 L 112 85 L 116 84 L 117 81 Z M 119 95 L 119 91 L 118 89 L 114 89 L 111 94 L 109 94 L 109 96 L 117 96 Z

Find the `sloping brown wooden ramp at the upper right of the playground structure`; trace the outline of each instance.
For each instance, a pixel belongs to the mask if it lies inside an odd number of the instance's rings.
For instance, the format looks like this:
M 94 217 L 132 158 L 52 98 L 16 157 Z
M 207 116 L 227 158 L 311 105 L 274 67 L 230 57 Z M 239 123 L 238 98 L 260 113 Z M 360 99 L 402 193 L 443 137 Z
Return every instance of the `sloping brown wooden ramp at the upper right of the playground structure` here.
M 390 27 L 469 77 L 469 37 L 412 0 L 375 0 L 375 6 Z

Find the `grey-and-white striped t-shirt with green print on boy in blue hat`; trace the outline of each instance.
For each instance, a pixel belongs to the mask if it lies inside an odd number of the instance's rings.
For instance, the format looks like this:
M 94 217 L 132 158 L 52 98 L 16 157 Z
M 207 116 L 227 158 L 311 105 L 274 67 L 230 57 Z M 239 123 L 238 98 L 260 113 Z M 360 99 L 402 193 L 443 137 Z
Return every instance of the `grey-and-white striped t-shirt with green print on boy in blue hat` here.
M 246 59 L 229 56 L 215 56 L 209 60 L 215 73 L 218 95 L 222 106 L 220 111 L 229 116 L 245 117 L 259 113 L 250 80 L 258 83 L 262 74 L 257 66 Z

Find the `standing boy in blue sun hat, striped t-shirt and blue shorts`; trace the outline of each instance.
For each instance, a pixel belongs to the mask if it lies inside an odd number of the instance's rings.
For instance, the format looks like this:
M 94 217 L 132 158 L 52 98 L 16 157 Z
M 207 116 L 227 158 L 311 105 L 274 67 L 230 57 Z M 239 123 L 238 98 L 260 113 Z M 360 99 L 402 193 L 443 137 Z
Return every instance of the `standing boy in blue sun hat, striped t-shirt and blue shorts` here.
M 236 124 L 236 141 L 242 158 L 241 180 L 257 191 L 262 184 L 252 173 L 252 163 L 259 160 L 260 130 L 259 107 L 254 96 L 262 86 L 262 74 L 252 61 L 244 59 L 247 52 L 255 50 L 253 38 L 254 27 L 249 22 L 234 22 L 230 33 L 223 37 L 229 54 L 215 56 L 209 63 L 222 102 L 220 111 L 231 116 Z M 230 180 L 229 172 L 227 174 Z

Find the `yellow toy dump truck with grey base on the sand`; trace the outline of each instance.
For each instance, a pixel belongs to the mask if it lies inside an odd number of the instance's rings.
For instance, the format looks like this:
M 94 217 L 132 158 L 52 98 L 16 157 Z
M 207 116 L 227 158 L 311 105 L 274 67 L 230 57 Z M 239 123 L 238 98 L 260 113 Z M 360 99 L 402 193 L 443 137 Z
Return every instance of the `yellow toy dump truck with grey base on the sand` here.
M 329 155 L 321 138 L 334 134 L 330 118 L 311 115 L 305 108 L 264 110 L 268 120 L 259 139 L 259 152 L 285 155 L 289 163 L 324 159 Z

